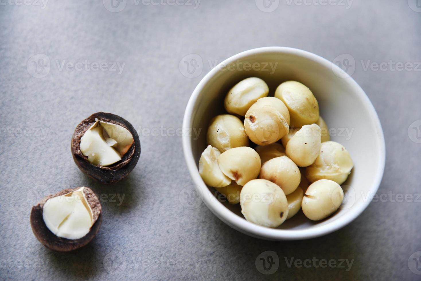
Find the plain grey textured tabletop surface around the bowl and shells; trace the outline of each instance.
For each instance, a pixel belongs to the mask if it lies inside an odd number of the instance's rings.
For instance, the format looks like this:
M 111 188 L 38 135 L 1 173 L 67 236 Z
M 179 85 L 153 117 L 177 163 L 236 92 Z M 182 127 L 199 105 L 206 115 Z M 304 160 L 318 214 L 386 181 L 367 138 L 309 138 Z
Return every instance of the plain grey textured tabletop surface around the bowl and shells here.
M 411 129 L 421 119 L 421 72 L 376 70 L 375 64 L 365 69 L 367 63 L 389 61 L 417 67 L 421 9 L 415 0 L 354 0 L 350 6 L 281 0 L 272 12 L 259 10 L 253 0 L 202 0 L 198 7 L 165 5 L 165 0 L 135 3 L 123 0 L 124 9 L 111 12 L 100 0 L 50 0 L 45 8 L 35 0 L 1 1 L 0 279 L 421 278 L 412 260 L 421 254 L 416 253 L 421 250 L 421 199 L 416 200 L 421 131 Z M 352 77 L 383 125 L 386 168 L 377 194 L 386 195 L 328 236 L 262 241 L 229 228 L 204 204 L 189 209 L 180 200 L 192 181 L 181 137 L 171 136 L 171 128 L 181 128 L 190 94 L 215 62 L 262 46 L 300 48 L 330 61 L 351 55 Z M 197 77 L 185 76 L 183 58 L 189 54 L 202 59 Z M 48 58 L 49 68 L 41 68 L 40 58 L 45 63 Z M 85 60 L 125 65 L 120 74 L 95 71 L 91 64 L 61 69 L 63 61 Z M 35 73 L 33 62 L 43 72 Z M 96 111 L 118 114 L 139 128 L 141 159 L 114 186 L 83 175 L 70 153 L 74 128 Z M 155 136 L 144 128 L 155 128 Z M 77 186 L 102 196 L 101 230 L 82 249 L 52 252 L 32 234 L 31 206 L 46 194 Z M 397 194 L 413 199 L 398 202 Z M 263 275 L 255 261 L 268 250 L 279 256 L 279 268 Z M 354 261 L 349 271 L 347 266 L 288 268 L 285 257 Z

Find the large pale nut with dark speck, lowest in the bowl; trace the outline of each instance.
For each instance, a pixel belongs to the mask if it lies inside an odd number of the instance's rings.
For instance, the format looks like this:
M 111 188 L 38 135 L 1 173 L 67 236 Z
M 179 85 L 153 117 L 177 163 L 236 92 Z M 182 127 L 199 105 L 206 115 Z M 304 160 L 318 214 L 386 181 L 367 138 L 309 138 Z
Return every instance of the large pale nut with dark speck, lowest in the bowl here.
M 250 180 L 240 193 L 241 213 L 258 225 L 276 228 L 288 217 L 285 193 L 269 180 Z

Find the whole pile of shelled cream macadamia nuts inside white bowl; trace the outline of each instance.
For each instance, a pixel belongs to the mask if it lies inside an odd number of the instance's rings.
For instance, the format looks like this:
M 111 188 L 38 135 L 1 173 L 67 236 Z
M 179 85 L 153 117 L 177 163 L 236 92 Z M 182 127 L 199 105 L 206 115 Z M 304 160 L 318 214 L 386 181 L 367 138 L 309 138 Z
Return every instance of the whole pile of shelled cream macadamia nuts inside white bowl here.
M 210 121 L 200 175 L 230 204 L 240 203 L 252 223 L 276 228 L 300 209 L 310 220 L 323 220 L 344 199 L 340 185 L 354 166 L 351 156 L 330 141 L 308 87 L 287 81 L 268 95 L 257 77 L 228 91 L 228 114 Z

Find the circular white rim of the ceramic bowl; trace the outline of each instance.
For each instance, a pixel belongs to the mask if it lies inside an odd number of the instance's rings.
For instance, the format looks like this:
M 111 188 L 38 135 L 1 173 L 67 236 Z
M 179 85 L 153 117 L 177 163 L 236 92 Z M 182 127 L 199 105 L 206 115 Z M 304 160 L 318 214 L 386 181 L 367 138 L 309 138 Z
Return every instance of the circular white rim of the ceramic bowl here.
M 241 60 L 242 58 L 256 55 L 256 54 L 264 54 L 264 53 L 284 53 L 290 55 L 296 55 L 300 57 L 307 58 L 320 64 L 326 68 L 332 68 L 333 71 L 338 73 L 341 69 L 336 64 L 333 64 L 331 61 L 328 61 L 321 56 L 318 56 L 314 53 L 310 53 L 305 50 L 300 50 L 296 48 L 290 47 L 263 47 L 263 48 L 255 48 L 251 50 L 246 50 L 241 53 L 238 53 L 234 56 L 227 58 L 226 60 L 222 61 L 220 64 L 215 66 L 211 69 L 205 77 L 199 82 L 196 86 L 195 90 L 193 91 L 192 95 L 189 98 L 189 102 L 187 103 L 186 110 L 184 112 L 184 119 L 183 119 L 183 131 L 187 132 L 188 128 L 192 127 L 192 114 L 195 109 L 195 104 L 197 98 L 199 97 L 200 93 L 203 90 L 203 86 L 206 85 L 220 70 L 221 65 L 228 65 L 232 62 L 237 60 Z M 222 68 L 221 68 L 222 69 Z M 342 72 L 343 73 L 343 72 Z M 231 210 L 227 209 L 220 201 L 212 200 L 211 197 L 214 198 L 208 186 L 205 185 L 202 178 L 200 177 L 199 170 L 197 169 L 196 161 L 193 157 L 192 153 L 192 138 L 188 134 L 183 134 L 182 142 L 183 142 L 183 151 L 184 151 L 184 158 L 186 159 L 187 167 L 189 169 L 190 175 L 192 177 L 194 186 L 197 192 L 202 197 L 205 204 L 208 208 L 222 221 L 226 224 L 231 226 L 232 228 L 239 230 L 245 234 L 248 234 L 253 237 L 269 239 L 269 240 L 301 240 L 301 239 L 311 239 L 319 236 L 323 236 L 333 231 L 337 231 L 338 229 L 344 227 L 345 225 L 351 223 L 355 218 L 357 218 L 370 204 L 373 199 L 373 196 L 376 194 L 381 179 L 384 173 L 384 165 L 386 160 L 386 147 L 384 141 L 384 134 L 381 127 L 380 119 L 374 109 L 373 104 L 371 103 L 368 96 L 365 94 L 364 90 L 358 85 L 355 80 L 349 76 L 347 73 L 344 74 L 344 78 L 338 77 L 338 79 L 346 79 L 349 85 L 353 88 L 353 92 L 363 101 L 365 104 L 366 109 L 368 110 L 371 121 L 374 123 L 376 127 L 376 135 L 377 141 L 379 145 L 379 156 L 378 156 L 378 163 L 379 169 L 376 171 L 375 181 L 373 186 L 370 189 L 369 196 L 366 201 L 363 201 L 358 207 L 354 207 L 350 209 L 345 215 L 343 215 L 338 220 L 334 220 L 331 223 L 320 225 L 316 228 L 312 229 L 277 229 L 277 228 L 266 228 L 261 225 L 256 225 L 251 223 L 244 218 L 236 215 Z M 206 196 L 205 194 L 208 194 Z

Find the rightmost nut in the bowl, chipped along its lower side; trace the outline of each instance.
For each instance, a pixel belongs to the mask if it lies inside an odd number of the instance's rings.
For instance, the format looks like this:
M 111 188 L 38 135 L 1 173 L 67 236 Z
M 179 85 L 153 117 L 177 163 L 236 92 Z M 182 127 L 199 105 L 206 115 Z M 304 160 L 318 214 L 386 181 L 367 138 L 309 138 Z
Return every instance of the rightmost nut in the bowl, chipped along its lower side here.
M 338 184 L 345 182 L 354 163 L 344 146 L 334 141 L 322 143 L 320 155 L 306 168 L 306 178 L 311 182 L 327 179 Z

